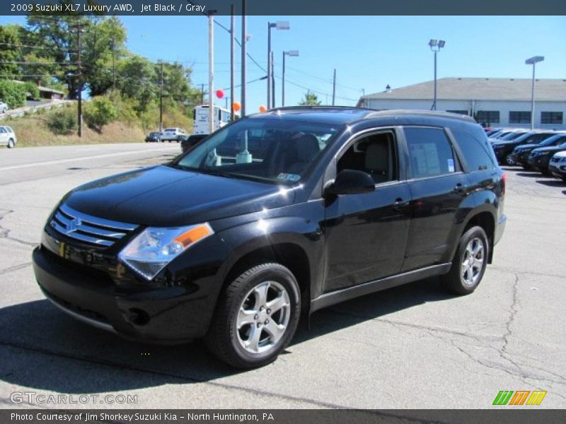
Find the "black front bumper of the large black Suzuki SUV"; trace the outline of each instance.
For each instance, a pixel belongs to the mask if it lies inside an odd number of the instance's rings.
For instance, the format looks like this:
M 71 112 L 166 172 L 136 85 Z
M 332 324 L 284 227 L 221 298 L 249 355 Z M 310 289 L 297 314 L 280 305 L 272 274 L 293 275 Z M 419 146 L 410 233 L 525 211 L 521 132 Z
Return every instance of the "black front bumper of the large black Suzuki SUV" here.
M 179 287 L 120 287 L 65 266 L 47 251 L 33 251 L 33 270 L 47 299 L 76 319 L 127 338 L 185 343 L 206 334 L 218 290 Z M 209 278 L 207 278 L 209 280 Z

